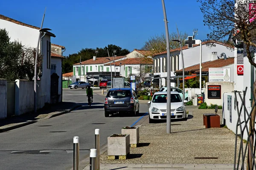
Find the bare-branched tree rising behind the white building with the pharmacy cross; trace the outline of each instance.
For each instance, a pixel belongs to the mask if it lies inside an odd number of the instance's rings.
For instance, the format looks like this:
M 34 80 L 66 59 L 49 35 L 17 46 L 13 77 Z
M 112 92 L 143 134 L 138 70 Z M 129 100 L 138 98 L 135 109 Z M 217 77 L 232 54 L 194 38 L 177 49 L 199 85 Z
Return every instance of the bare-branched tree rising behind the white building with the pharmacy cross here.
M 185 40 L 187 39 L 188 34 L 180 32 L 181 45 L 185 45 Z M 178 35 L 175 32 L 169 34 L 170 48 L 180 48 L 180 45 L 177 42 L 172 40 L 178 40 Z M 155 54 L 166 51 L 166 36 L 165 34 L 154 35 L 148 38 L 148 41 L 142 47 L 143 50 L 154 51 Z

